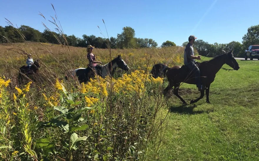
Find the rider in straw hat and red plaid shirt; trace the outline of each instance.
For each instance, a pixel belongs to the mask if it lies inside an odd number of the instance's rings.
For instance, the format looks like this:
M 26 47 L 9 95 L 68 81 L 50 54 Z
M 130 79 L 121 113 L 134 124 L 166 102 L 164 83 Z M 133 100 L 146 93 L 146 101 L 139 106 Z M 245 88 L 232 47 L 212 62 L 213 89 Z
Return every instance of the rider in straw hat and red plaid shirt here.
M 102 64 L 102 62 L 98 62 L 95 60 L 95 55 L 93 54 L 93 49 L 94 49 L 94 46 L 92 46 L 92 45 L 88 45 L 86 48 L 87 59 L 89 60 L 89 67 L 92 68 L 92 70 L 100 71 L 102 69 L 102 66 L 97 63 Z

